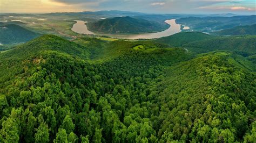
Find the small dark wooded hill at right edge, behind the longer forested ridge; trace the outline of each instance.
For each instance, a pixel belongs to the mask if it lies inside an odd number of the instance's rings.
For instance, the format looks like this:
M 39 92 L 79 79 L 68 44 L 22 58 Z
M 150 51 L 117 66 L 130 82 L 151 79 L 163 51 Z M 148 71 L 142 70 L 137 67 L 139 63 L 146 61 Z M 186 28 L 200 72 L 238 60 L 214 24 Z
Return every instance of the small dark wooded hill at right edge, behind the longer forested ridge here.
M 230 29 L 212 32 L 215 35 L 256 35 L 256 24 L 237 26 Z

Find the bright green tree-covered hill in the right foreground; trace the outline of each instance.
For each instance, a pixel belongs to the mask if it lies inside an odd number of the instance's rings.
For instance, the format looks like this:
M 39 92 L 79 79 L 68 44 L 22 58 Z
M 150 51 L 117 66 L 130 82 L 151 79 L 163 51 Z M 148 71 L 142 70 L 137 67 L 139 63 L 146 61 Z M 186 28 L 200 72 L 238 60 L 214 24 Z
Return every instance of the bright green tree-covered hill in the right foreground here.
M 168 76 L 157 87 L 163 90 L 158 104 L 166 107 L 159 113 L 158 134 L 166 141 L 246 138 L 255 124 L 256 78 L 237 64 L 230 55 L 214 53 L 166 69 Z

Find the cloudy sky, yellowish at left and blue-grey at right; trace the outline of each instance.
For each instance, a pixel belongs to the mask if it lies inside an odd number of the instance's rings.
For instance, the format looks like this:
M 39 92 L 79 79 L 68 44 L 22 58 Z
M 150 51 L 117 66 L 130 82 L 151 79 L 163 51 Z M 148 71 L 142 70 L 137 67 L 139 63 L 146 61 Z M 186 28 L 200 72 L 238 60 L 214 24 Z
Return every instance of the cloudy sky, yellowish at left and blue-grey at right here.
M 145 13 L 256 15 L 256 0 L 0 0 L 0 13 L 124 10 Z

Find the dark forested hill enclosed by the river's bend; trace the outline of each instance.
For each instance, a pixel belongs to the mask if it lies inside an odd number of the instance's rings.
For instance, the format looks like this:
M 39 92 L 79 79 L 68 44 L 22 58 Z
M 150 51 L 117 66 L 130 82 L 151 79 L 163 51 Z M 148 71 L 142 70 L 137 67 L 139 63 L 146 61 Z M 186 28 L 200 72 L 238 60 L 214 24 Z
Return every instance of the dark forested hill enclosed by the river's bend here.
M 90 31 L 98 33 L 131 34 L 164 31 L 170 25 L 140 18 L 114 17 L 87 23 L 87 27 Z

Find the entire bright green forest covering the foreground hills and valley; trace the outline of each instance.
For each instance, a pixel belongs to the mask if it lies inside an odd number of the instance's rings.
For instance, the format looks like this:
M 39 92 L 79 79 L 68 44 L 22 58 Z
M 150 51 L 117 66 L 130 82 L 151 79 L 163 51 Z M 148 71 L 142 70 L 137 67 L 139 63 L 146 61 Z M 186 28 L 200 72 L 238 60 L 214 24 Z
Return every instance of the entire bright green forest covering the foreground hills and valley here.
M 104 45 L 97 61 L 53 35 L 0 54 L 0 141 L 255 141 L 256 75 L 233 53 Z

